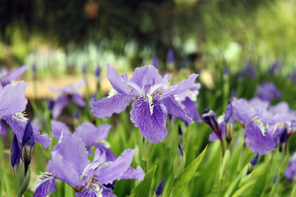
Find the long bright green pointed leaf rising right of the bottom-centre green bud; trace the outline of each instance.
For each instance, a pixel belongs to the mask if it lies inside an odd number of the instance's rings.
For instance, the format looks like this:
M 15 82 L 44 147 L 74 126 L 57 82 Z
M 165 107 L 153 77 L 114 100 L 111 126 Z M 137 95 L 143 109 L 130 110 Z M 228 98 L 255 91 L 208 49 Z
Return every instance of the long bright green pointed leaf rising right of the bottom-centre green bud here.
M 207 146 L 208 147 L 208 146 Z M 198 165 L 200 164 L 207 147 L 203 150 L 203 152 L 190 164 L 186 169 L 182 172 L 182 174 L 177 178 L 176 183 L 174 185 L 172 195 L 173 197 L 182 197 L 184 191 L 187 187 L 188 182 L 196 171 Z

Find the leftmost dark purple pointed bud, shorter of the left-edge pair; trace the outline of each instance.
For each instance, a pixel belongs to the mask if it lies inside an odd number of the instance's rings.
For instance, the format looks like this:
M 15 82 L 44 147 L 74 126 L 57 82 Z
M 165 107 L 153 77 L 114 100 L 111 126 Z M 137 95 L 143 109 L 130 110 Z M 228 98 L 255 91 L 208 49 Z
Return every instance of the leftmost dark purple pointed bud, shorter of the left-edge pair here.
M 20 164 L 20 160 L 22 159 L 22 149 L 20 144 L 17 141 L 17 137 L 14 134 L 13 140 L 11 143 L 11 150 L 10 150 L 10 163 L 13 168 L 13 176 L 15 177 L 17 168 Z

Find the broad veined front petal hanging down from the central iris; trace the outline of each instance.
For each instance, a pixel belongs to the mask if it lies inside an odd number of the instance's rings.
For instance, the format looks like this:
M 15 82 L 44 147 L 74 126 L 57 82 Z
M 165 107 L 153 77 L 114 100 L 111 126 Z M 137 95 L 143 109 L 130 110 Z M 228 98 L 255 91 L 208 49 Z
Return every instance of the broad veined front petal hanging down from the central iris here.
M 139 127 L 141 135 L 148 142 L 158 143 L 167 135 L 167 110 L 159 100 L 151 99 L 150 104 L 149 102 L 148 99 L 139 98 L 133 103 L 131 121 L 135 123 L 135 127 Z

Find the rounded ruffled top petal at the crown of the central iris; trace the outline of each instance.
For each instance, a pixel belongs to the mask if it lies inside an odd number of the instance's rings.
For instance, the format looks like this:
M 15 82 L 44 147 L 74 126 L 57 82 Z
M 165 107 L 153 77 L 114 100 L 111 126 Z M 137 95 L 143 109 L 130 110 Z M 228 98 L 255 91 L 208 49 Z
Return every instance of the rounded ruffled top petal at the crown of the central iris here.
M 148 81 L 154 78 L 154 84 L 160 83 L 163 80 L 161 75 L 158 73 L 158 70 L 152 65 L 137 67 L 132 75 L 133 77 L 130 80 L 136 83 L 139 87 L 143 87 L 142 80 L 144 76 L 146 76 Z

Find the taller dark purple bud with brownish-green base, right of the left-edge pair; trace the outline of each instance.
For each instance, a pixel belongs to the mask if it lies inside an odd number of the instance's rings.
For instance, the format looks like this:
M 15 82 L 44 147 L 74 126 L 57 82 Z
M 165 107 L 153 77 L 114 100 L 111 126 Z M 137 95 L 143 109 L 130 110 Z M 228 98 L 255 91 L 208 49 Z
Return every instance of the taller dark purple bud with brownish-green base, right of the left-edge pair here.
M 27 172 L 28 165 L 31 163 L 34 142 L 33 128 L 29 119 L 22 139 L 22 158 L 25 164 L 25 172 Z

